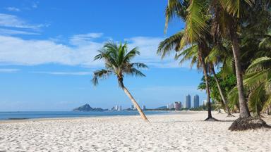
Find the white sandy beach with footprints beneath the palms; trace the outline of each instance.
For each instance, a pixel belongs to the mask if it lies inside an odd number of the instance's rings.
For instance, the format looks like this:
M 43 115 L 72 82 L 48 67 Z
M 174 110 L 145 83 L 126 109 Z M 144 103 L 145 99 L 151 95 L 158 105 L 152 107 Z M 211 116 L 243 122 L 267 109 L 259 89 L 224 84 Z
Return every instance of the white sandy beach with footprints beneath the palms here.
M 230 132 L 207 112 L 0 122 L 0 151 L 271 151 L 271 129 Z M 265 118 L 271 124 L 271 118 Z

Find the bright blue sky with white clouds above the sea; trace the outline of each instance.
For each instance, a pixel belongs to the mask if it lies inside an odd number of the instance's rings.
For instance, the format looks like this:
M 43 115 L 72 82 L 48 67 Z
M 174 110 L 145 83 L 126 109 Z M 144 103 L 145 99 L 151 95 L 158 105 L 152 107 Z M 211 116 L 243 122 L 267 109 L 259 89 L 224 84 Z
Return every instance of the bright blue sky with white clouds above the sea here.
M 93 87 L 93 61 L 104 42 L 139 47 L 135 58 L 149 65 L 147 77 L 126 77 L 124 83 L 147 108 L 182 101 L 185 94 L 205 92 L 202 77 L 188 63 L 156 55 L 159 42 L 184 24 L 175 20 L 164 34 L 167 1 L 0 1 L 0 111 L 71 110 L 84 103 L 112 108 L 131 105 L 115 77 Z

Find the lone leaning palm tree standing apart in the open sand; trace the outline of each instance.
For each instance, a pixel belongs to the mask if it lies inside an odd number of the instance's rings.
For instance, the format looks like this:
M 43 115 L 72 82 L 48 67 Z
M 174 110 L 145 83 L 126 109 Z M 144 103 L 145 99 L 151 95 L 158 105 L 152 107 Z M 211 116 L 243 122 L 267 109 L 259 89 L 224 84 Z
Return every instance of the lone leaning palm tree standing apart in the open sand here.
M 103 48 L 99 50 L 99 54 L 95 56 L 95 60 L 104 60 L 105 69 L 96 70 L 92 82 L 94 85 L 97 85 L 98 78 L 106 78 L 112 74 L 116 75 L 119 87 L 121 87 L 129 99 L 131 99 L 141 118 L 149 122 L 130 91 L 124 86 L 124 75 L 145 77 L 143 72 L 140 72 L 138 68 L 147 68 L 147 65 L 144 63 L 131 63 L 131 60 L 137 55 L 140 55 L 140 52 L 136 47 L 128 51 L 126 43 L 118 45 L 114 42 L 107 42 Z

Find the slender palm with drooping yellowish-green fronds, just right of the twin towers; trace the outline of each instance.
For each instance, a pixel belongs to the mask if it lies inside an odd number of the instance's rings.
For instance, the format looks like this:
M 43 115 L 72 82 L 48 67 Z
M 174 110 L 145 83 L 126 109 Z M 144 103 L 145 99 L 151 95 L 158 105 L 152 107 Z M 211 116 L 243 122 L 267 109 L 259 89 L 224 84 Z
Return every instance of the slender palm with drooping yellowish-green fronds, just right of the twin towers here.
M 208 117 L 205 120 L 215 120 L 215 118 L 212 118 L 210 87 L 208 84 L 207 64 L 205 63 L 205 57 L 207 56 L 207 52 L 210 51 L 206 42 L 208 34 L 201 33 L 202 30 L 208 28 L 207 16 L 205 16 L 205 13 L 203 13 L 205 11 L 204 8 L 206 5 L 206 1 L 168 0 L 168 5 L 166 8 L 165 31 L 167 30 L 167 25 L 172 18 L 177 16 L 182 20 L 186 20 L 186 27 L 181 35 L 181 40 L 179 39 L 179 42 L 177 44 L 175 43 L 176 41 L 173 44 L 169 44 L 169 48 L 174 45 L 177 47 L 176 51 L 181 51 L 186 46 L 198 46 L 198 63 L 200 63 L 199 65 L 203 69 L 203 74 L 206 80 L 205 83 L 208 103 Z M 167 41 L 167 39 L 165 41 Z M 160 46 L 162 46 L 162 43 L 160 44 Z M 161 48 L 163 49 L 163 47 Z M 162 52 L 162 49 L 158 49 L 158 53 Z M 169 50 L 167 50 L 167 47 L 165 47 L 163 51 L 165 53 L 162 53 L 162 56 L 163 54 L 167 54 L 167 52 L 169 52 Z

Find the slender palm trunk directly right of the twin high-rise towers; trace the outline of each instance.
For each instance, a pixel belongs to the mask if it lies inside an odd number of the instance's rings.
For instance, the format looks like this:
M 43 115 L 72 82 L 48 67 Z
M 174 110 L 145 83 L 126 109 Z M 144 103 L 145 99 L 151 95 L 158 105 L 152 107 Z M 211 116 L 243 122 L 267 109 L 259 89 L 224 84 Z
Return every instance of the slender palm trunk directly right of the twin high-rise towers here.
M 209 82 L 208 82 L 208 74 L 207 74 L 207 67 L 204 61 L 204 56 L 203 56 L 203 50 L 199 47 L 198 48 L 198 55 L 200 58 L 200 63 L 203 68 L 203 74 L 205 77 L 205 85 L 206 85 L 206 93 L 207 93 L 207 110 L 208 110 L 208 117 L 205 120 L 209 120 L 212 118 L 212 107 L 211 107 L 211 101 L 210 101 L 210 88 L 209 88 Z

